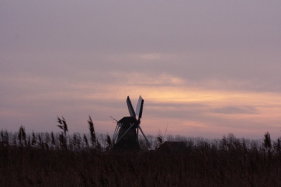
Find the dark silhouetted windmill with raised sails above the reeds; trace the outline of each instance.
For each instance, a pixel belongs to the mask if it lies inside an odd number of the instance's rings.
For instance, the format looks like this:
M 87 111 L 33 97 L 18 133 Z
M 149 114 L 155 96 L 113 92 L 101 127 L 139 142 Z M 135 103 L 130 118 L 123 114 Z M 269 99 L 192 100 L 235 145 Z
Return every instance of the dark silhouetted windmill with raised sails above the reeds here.
M 133 105 L 131 104 L 131 100 L 129 96 L 127 97 L 126 103 L 128 105 L 129 117 L 123 117 L 121 120 L 117 121 L 115 132 L 112 137 L 112 141 L 115 143 L 114 148 L 116 149 L 141 149 L 138 144 L 138 130 L 141 131 L 145 141 L 148 143 L 150 148 L 150 143 L 148 138 L 146 138 L 143 133 L 143 129 L 141 129 L 141 116 L 143 114 L 143 98 L 138 98 L 138 104 L 136 106 L 136 112 L 133 110 Z M 138 120 L 136 118 L 138 116 Z

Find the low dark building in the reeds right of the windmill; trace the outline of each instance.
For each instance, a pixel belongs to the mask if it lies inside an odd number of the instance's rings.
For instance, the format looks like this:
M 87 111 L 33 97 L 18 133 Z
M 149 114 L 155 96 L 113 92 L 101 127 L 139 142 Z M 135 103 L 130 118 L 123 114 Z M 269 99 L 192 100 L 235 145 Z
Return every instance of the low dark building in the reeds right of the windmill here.
M 157 150 L 165 153 L 185 153 L 188 149 L 183 141 L 165 141 Z

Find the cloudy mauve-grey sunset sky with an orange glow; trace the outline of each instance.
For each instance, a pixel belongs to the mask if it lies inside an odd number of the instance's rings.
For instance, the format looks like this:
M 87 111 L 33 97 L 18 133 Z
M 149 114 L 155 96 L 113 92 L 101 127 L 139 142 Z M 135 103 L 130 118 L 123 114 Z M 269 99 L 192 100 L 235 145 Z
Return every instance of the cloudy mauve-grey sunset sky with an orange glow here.
M 281 136 L 281 1 L 0 1 L 0 129 Z

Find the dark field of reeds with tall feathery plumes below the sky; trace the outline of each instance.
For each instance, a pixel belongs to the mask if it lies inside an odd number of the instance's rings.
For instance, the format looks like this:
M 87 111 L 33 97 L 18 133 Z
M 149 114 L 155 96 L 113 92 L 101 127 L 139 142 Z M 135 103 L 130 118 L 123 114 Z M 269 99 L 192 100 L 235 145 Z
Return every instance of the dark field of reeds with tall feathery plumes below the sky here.
M 143 138 L 142 150 L 112 150 L 110 136 L 98 135 L 89 119 L 89 134 L 0 134 L 0 186 L 281 186 L 280 138 L 261 141 L 166 136 Z M 159 148 L 183 141 L 183 151 Z

